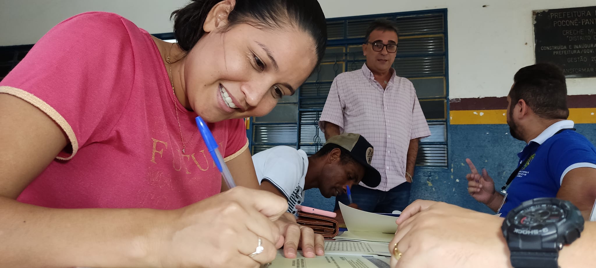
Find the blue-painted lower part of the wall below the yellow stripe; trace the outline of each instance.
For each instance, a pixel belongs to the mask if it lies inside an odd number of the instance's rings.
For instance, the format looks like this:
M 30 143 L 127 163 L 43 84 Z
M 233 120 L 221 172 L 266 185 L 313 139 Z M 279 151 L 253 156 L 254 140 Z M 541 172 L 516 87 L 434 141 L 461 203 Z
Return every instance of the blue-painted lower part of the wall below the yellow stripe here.
M 465 174 L 470 173 L 465 158 L 480 170 L 485 168 L 500 189 L 513 172 L 517 152 L 525 143 L 511 137 L 507 124 L 453 124 L 449 126 L 449 168 L 417 168 L 412 183 L 411 201 L 436 200 L 491 213 L 486 205 L 471 198 Z M 579 133 L 596 144 L 596 124 L 576 124 Z M 318 189 L 306 191 L 305 205 L 333 210 L 335 198 L 324 198 Z

